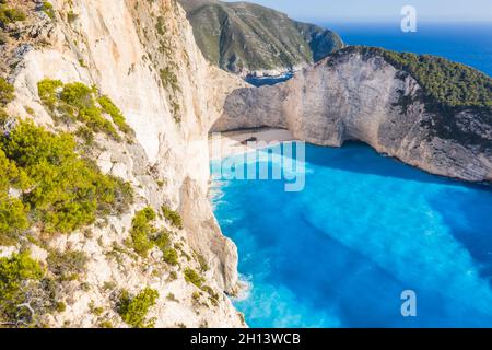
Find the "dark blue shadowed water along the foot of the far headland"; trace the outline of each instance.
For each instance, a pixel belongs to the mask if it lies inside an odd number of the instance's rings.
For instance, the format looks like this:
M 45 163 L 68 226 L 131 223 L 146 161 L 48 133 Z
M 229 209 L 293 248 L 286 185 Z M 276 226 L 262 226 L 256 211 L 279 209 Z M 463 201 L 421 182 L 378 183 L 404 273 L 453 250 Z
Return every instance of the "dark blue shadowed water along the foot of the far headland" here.
M 354 149 L 356 152 L 353 152 Z M 333 149 L 332 155 L 328 158 L 327 150 L 321 147 L 309 147 L 306 152 L 307 161 L 320 166 L 442 185 L 443 188 L 427 200 L 442 215 L 446 225 L 452 228 L 453 236 L 478 262 L 480 276 L 492 285 L 491 186 L 427 174 L 396 159 L 380 156 L 375 150 L 361 142 L 350 142 L 341 149 Z

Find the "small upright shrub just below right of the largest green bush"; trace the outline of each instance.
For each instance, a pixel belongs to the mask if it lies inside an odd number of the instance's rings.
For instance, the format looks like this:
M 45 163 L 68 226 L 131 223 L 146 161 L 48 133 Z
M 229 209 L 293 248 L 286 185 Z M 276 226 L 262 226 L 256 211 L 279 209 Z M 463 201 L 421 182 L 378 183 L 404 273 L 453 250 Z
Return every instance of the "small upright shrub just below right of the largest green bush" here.
M 131 221 L 131 246 L 140 256 L 145 257 L 149 250 L 154 246 L 152 236 L 155 234 L 156 229 L 152 222 L 155 218 L 155 211 L 152 208 L 147 207 L 138 211 Z

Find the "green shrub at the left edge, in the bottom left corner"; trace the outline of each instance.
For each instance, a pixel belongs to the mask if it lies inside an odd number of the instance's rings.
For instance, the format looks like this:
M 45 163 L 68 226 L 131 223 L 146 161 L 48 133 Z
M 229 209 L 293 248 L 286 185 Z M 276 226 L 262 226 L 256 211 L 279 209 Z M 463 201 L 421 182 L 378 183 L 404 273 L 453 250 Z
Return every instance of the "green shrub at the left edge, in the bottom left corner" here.
M 27 252 L 0 258 L 0 322 L 31 325 L 34 315 L 22 305 L 30 302 L 32 283 L 43 275 L 39 264 Z

